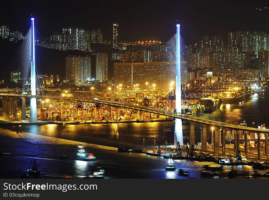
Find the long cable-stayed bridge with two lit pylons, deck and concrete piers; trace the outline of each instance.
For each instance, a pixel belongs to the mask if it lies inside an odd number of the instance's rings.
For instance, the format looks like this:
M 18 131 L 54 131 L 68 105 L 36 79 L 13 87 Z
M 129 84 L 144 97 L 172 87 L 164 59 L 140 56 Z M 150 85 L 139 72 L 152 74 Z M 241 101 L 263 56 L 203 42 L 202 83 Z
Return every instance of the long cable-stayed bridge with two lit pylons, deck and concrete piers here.
M 190 146 L 194 146 L 194 123 L 202 124 L 202 151 L 207 150 L 207 143 L 206 143 L 206 134 L 207 134 L 207 125 L 210 125 L 214 127 L 214 153 L 219 154 L 220 153 L 220 146 L 219 146 L 219 140 L 222 138 L 222 144 L 226 143 L 226 137 L 225 132 L 226 129 L 232 129 L 235 130 L 235 147 L 236 149 L 239 149 L 239 130 L 243 131 L 245 134 L 245 143 L 247 143 L 247 133 L 252 131 L 258 133 L 258 140 L 260 139 L 260 133 L 265 133 L 266 135 L 266 141 L 265 145 L 267 147 L 268 142 L 268 133 L 269 130 L 265 129 L 257 129 L 252 127 L 245 127 L 240 125 L 235 125 L 232 123 L 227 123 L 224 121 L 215 121 L 205 118 L 199 118 L 192 115 L 186 115 L 181 113 L 181 100 L 182 100 L 182 91 L 181 91 L 181 84 L 182 79 L 186 80 L 186 73 L 181 70 L 182 67 L 182 61 L 186 61 L 186 54 L 184 53 L 184 47 L 186 46 L 183 42 L 182 37 L 180 36 L 180 25 L 179 23 L 176 24 L 176 34 L 168 40 L 167 44 L 164 45 L 165 50 L 163 54 L 163 61 L 167 62 L 166 65 L 164 65 L 164 74 L 166 77 L 169 77 L 167 79 L 167 82 L 175 81 L 175 111 L 163 111 L 160 109 L 155 109 L 152 107 L 142 107 L 138 105 L 131 105 L 131 104 L 124 104 L 119 102 L 112 102 L 112 101 L 105 101 L 105 100 L 87 100 L 87 99 L 78 99 L 78 98 L 67 98 L 67 97 L 61 97 L 61 96 L 44 96 L 44 95 L 36 95 L 36 90 L 40 87 L 38 86 L 38 82 L 36 80 L 36 69 L 35 69 L 35 29 L 34 29 L 34 18 L 31 18 L 31 31 L 28 32 L 28 40 L 27 45 L 28 50 L 28 56 L 25 57 L 25 65 L 29 66 L 29 61 L 31 60 L 31 95 L 29 94 L 21 94 L 21 95 L 15 95 L 15 94 L 0 94 L 2 96 L 2 107 L 5 107 L 5 114 L 9 115 L 10 111 L 10 104 L 12 102 L 13 108 L 16 108 L 16 102 L 10 101 L 9 98 L 22 98 L 22 119 L 26 119 L 25 114 L 25 98 L 30 98 L 30 118 L 29 122 L 37 122 L 37 107 L 36 107 L 36 98 L 51 98 L 51 99 L 59 99 L 59 100 L 69 100 L 69 101 L 83 101 L 93 104 L 104 104 L 109 105 L 113 107 L 122 107 L 122 108 L 128 108 L 128 109 L 134 109 L 139 111 L 144 111 L 148 113 L 154 113 L 154 114 L 160 114 L 168 117 L 175 118 L 175 141 L 178 141 L 180 144 L 183 144 L 183 135 L 182 135 L 182 120 L 189 121 L 190 122 Z M 29 40 L 30 38 L 30 40 Z M 184 58 L 185 57 L 185 58 Z M 27 68 L 27 67 L 26 67 Z M 23 74 L 28 75 L 30 70 L 25 70 Z M 26 85 L 26 82 L 25 82 Z M 28 91 L 29 89 L 29 83 L 28 87 L 25 89 Z M 38 90 L 39 94 L 39 90 Z M 221 131 L 221 132 L 220 132 Z M 220 136 L 220 134 L 222 136 Z M 174 142 L 174 145 L 176 142 Z M 258 158 L 260 157 L 260 148 L 259 148 L 260 142 L 258 142 Z M 222 147 L 222 154 L 225 154 L 225 147 Z M 247 146 L 245 145 L 245 155 L 247 155 Z M 268 155 L 268 148 L 266 148 L 266 157 Z

